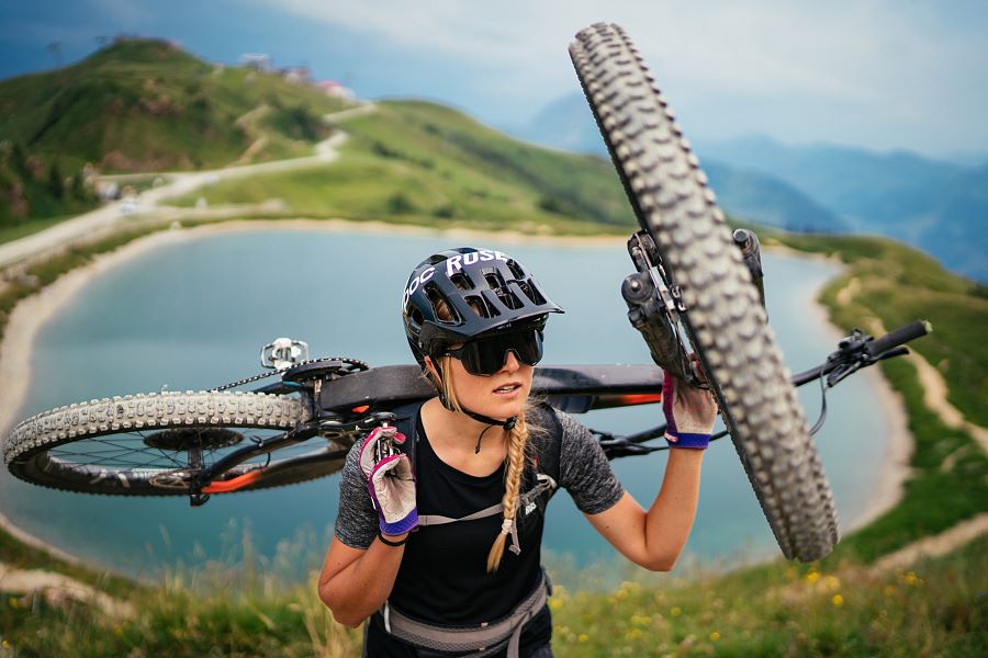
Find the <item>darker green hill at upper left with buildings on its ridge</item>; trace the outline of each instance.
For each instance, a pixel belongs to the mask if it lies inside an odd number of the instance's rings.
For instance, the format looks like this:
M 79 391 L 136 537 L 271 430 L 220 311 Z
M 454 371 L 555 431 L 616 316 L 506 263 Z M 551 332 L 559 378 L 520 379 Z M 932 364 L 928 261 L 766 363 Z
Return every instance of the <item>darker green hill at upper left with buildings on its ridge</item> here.
M 66 169 L 220 167 L 307 155 L 339 101 L 278 73 L 214 66 L 169 42 L 119 39 L 87 59 L 0 82 L 0 136 Z

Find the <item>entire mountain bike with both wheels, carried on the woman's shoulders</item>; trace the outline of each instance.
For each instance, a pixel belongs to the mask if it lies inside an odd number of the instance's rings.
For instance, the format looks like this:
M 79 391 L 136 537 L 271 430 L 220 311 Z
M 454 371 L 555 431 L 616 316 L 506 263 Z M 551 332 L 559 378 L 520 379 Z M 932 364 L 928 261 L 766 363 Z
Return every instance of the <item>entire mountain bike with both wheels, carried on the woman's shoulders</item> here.
M 858 330 L 819 366 L 790 377 L 767 326 L 757 238 L 727 228 L 699 163 L 624 31 L 596 24 L 570 53 L 640 229 L 628 241 L 636 272 L 621 285 L 628 318 L 653 361 L 709 387 L 770 526 L 788 558 L 829 553 L 837 512 L 795 386 L 837 385 L 906 353 L 929 331 L 913 322 L 879 339 Z M 697 375 L 689 365 L 696 360 Z M 308 345 L 261 349 L 267 372 L 201 392 L 150 393 L 45 411 L 3 441 L 26 481 L 83 494 L 211 496 L 324 477 L 393 410 L 435 390 L 415 365 L 370 367 L 311 360 Z M 273 381 L 263 381 L 272 377 Z M 532 392 L 572 413 L 661 401 L 656 365 L 548 365 Z M 826 397 L 824 397 L 826 401 Z M 826 409 L 826 405 L 824 405 Z M 610 458 L 648 454 L 664 426 L 618 436 L 595 431 Z

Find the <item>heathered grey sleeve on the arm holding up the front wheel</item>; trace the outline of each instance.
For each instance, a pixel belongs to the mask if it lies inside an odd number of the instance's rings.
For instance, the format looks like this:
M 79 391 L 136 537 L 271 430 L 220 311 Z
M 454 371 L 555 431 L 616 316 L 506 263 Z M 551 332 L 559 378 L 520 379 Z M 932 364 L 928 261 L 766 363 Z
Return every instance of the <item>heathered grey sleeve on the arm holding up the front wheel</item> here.
M 609 510 L 625 495 L 625 488 L 614 475 L 604 449 L 581 422 L 562 411 L 555 415 L 562 426 L 560 486 L 584 514 Z

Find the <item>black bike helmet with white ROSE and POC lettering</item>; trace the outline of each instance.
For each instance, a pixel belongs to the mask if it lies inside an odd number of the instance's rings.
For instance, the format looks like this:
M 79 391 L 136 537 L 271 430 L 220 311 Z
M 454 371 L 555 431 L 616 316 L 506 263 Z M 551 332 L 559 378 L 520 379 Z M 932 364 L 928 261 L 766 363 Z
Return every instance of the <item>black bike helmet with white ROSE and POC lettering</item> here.
M 408 345 L 423 367 L 427 354 L 435 358 L 453 343 L 564 313 L 520 262 L 472 247 L 419 263 L 405 285 L 402 311 Z

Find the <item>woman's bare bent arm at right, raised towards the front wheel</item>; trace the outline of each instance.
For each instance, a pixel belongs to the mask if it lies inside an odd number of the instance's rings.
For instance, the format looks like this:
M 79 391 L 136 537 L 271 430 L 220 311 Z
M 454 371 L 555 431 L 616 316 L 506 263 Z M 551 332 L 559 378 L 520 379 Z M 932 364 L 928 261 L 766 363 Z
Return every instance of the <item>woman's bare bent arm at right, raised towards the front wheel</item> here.
M 671 450 L 662 487 L 645 512 L 627 491 L 610 509 L 586 514 L 621 555 L 653 571 L 669 571 L 686 545 L 699 499 L 701 450 Z

